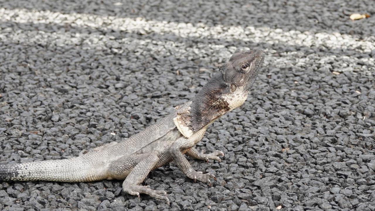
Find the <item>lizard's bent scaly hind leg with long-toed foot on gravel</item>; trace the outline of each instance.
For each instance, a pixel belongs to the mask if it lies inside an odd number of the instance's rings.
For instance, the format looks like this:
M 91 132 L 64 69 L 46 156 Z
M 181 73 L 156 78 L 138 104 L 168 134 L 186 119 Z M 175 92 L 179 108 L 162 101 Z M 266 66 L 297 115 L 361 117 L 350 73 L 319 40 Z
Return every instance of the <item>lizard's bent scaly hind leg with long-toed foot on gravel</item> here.
M 165 196 L 166 192 L 164 190 L 152 190 L 147 186 L 139 185 L 144 181 L 148 173 L 154 169 L 158 160 L 159 157 L 156 154 L 142 154 L 142 156 L 136 155 L 136 157 L 133 157 L 133 159 L 132 157 L 127 157 L 126 160 L 117 161 L 117 164 L 123 163 L 123 165 L 120 164 L 120 166 L 116 166 L 116 168 L 121 168 L 127 166 L 129 163 L 136 162 L 135 166 L 132 168 L 123 182 L 123 191 L 138 197 L 139 193 L 144 193 L 156 199 L 165 200 L 167 203 L 169 203 L 169 199 Z

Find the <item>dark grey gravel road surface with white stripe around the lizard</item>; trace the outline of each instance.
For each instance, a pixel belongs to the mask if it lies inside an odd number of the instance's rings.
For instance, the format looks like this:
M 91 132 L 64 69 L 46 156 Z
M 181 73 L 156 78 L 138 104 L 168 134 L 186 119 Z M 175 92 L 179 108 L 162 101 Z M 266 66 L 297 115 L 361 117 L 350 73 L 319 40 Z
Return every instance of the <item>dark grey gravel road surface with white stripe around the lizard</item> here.
M 144 181 L 170 206 L 121 181 L 36 181 L 1 182 L 0 209 L 374 211 L 374 35 L 374 0 L 0 0 L 0 164 L 123 140 L 231 54 L 266 52 L 248 100 L 198 143 L 222 162 L 190 161 L 212 187 L 171 163 Z

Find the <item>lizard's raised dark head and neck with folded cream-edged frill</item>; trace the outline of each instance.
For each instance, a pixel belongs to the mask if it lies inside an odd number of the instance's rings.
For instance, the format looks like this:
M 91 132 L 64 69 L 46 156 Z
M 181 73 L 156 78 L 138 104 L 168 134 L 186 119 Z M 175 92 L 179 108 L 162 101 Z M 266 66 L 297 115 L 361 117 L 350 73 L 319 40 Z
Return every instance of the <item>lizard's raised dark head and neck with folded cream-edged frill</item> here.
M 226 112 L 242 105 L 264 59 L 263 50 L 235 53 L 195 95 L 189 107 L 178 109 L 178 130 L 189 137 Z

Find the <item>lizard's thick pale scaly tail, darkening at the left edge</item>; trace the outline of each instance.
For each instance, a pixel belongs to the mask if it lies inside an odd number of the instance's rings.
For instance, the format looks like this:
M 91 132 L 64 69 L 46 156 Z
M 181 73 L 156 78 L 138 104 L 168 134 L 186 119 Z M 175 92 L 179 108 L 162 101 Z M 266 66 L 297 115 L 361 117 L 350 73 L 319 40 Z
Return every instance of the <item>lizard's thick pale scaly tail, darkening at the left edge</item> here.
M 103 167 L 80 157 L 0 165 L 0 181 L 88 182 L 105 179 Z

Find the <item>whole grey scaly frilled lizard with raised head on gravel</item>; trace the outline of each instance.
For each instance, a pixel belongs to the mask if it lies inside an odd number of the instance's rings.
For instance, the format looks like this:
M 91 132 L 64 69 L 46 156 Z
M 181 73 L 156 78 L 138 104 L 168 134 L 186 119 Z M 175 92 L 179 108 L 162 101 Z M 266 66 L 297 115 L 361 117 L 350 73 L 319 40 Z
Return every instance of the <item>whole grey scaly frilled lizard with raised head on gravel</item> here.
M 63 160 L 43 160 L 0 165 L 0 181 L 90 182 L 124 180 L 123 192 L 139 197 L 148 194 L 169 204 L 166 191 L 153 190 L 141 183 L 148 173 L 172 161 L 188 177 L 208 182 L 216 177 L 194 170 L 190 158 L 221 161 L 223 152 L 203 154 L 194 148 L 207 126 L 242 105 L 264 60 L 260 49 L 234 53 L 207 81 L 193 99 L 175 107 L 172 113 L 120 142 L 111 142 L 86 154 Z

